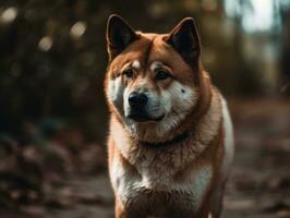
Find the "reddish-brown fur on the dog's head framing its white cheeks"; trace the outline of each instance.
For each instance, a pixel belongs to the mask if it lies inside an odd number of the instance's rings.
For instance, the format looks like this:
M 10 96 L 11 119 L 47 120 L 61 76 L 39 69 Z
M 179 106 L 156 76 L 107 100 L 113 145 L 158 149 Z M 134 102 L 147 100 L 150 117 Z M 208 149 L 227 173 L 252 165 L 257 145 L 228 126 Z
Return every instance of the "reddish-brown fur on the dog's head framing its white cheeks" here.
M 156 35 L 156 34 L 141 34 L 140 33 L 140 39 L 137 41 L 132 43 L 129 45 L 128 48 L 124 49 L 124 51 L 117 56 L 116 59 L 113 59 L 109 65 L 109 70 L 106 76 L 105 81 L 105 92 L 108 90 L 108 80 L 111 77 L 114 77 L 114 74 L 120 74 L 121 72 L 118 71 L 118 69 L 123 69 L 123 65 L 128 62 L 131 62 L 133 60 L 144 60 L 143 64 L 148 65 L 152 61 L 160 61 L 168 65 L 170 68 L 170 72 L 172 73 L 174 80 L 179 81 L 180 83 L 188 85 L 190 87 L 198 88 L 198 93 L 201 95 L 200 102 L 197 108 L 195 108 L 192 111 L 192 114 L 190 117 L 196 117 L 198 118 L 200 113 L 206 112 L 207 107 L 210 102 L 210 78 L 208 74 L 203 71 L 202 68 L 198 70 L 193 70 L 189 64 L 186 64 L 182 58 L 172 49 L 169 45 L 167 45 L 164 41 L 165 36 L 167 35 Z M 146 51 L 148 48 L 152 47 L 150 53 L 147 53 Z M 147 60 L 147 57 L 145 55 L 150 55 L 150 59 Z M 147 62 L 145 63 L 145 60 Z M 138 76 L 140 77 L 149 77 L 149 81 L 153 80 L 153 75 L 148 75 L 148 71 L 146 69 L 142 69 L 141 72 L 135 72 L 136 78 L 128 82 L 129 87 L 134 86 L 135 84 L 138 84 Z M 192 76 L 193 74 L 198 74 L 198 81 L 195 81 Z M 149 83 L 158 90 L 159 88 L 167 88 L 172 81 L 167 81 L 166 83 L 159 83 L 158 85 L 155 83 Z M 197 86 L 198 85 L 198 86 Z M 160 87 L 158 87 L 160 86 Z M 109 109 L 113 111 L 112 114 L 118 114 L 118 112 L 114 110 L 114 107 L 111 105 L 111 102 L 108 102 Z M 119 119 L 120 120 L 120 119 Z M 188 119 L 185 119 L 188 120 Z M 191 124 L 191 123 L 189 123 Z M 168 133 L 168 135 L 172 135 L 172 133 L 179 134 L 185 129 L 188 129 L 188 123 L 182 123 L 178 130 L 172 130 Z

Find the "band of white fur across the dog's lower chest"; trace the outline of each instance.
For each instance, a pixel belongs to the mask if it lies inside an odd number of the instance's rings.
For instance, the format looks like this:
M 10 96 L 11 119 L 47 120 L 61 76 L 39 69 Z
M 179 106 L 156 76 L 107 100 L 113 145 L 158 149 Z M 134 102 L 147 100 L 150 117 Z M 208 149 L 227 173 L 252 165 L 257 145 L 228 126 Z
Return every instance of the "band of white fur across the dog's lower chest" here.
M 158 166 L 155 167 L 158 168 Z M 140 172 L 141 174 L 131 174 L 120 162 L 114 162 L 111 181 L 116 193 L 124 205 L 131 199 L 137 201 L 144 192 L 154 191 L 172 194 L 176 205 L 194 210 L 200 208 L 212 184 L 213 168 L 210 165 L 190 171 L 183 180 L 173 178 L 173 170 L 170 167 L 159 166 L 158 171 L 155 171 L 157 170 L 155 167 L 147 166 Z M 177 197 L 176 193 L 182 194 Z M 147 201 L 150 201 L 150 197 L 148 196 Z

